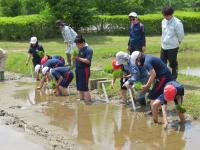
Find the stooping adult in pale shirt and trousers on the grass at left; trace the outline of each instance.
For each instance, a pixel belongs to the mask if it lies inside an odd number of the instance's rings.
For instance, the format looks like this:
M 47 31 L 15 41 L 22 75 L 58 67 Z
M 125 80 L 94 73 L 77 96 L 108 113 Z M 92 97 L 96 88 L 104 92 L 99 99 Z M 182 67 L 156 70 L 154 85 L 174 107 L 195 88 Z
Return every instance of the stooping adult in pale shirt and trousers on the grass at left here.
M 71 53 L 72 49 L 76 47 L 74 40 L 77 36 L 77 33 L 70 27 L 67 26 L 62 20 L 56 21 L 56 26 L 60 28 L 64 42 L 67 44 L 66 48 L 66 56 L 67 56 L 67 63 L 71 66 Z

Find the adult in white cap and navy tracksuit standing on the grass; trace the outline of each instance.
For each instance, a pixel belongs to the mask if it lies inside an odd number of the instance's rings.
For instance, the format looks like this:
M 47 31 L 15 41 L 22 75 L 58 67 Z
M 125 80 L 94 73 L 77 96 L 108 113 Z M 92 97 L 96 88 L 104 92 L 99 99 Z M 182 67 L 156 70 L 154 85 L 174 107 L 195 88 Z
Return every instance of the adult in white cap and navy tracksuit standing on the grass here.
M 129 14 L 129 19 L 131 26 L 129 30 L 128 50 L 130 54 L 134 51 L 144 52 L 146 46 L 144 25 L 138 20 L 138 15 L 135 12 Z

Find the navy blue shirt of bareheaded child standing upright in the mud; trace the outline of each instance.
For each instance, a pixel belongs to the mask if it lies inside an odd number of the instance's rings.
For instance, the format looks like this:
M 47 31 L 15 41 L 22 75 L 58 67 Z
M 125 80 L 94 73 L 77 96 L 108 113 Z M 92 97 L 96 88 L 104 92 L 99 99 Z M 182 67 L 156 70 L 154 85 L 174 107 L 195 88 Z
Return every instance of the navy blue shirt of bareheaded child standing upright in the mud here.
M 91 48 L 89 48 L 88 46 L 85 46 L 82 49 L 79 49 L 78 57 L 86 58 L 87 60 L 90 61 L 90 64 L 83 63 L 80 60 L 76 59 L 76 68 L 90 67 L 91 61 L 92 61 L 92 55 L 93 55 L 93 50 Z

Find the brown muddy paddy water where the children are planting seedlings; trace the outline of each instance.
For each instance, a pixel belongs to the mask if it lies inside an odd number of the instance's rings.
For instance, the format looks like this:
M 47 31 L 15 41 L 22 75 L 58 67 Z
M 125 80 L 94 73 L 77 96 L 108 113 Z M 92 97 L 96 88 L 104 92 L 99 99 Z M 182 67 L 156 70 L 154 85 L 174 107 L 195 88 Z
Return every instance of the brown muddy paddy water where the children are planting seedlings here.
M 48 96 L 34 87 L 31 82 L 23 80 L 0 83 L 0 90 L 3 91 L 1 95 L 10 99 L 5 102 L 1 96 L 1 106 L 9 107 L 12 112 L 19 111 L 22 117 L 27 115 L 23 111 L 36 111 L 40 115 L 33 114 L 33 119 L 40 117 L 39 120 L 52 126 L 52 129 L 56 127 L 55 132 L 57 128 L 62 129 L 64 135 L 80 145 L 81 149 L 199 149 L 199 122 L 187 120 L 181 125 L 177 117 L 169 115 L 169 128 L 164 130 L 162 125 L 153 124 L 151 116 L 145 115 L 143 111 L 135 113 L 131 107 L 117 102 L 107 104 L 94 100 L 93 104 L 86 105 L 78 100 L 73 90 L 71 96 L 56 97 Z M 6 89 L 10 91 L 5 92 Z

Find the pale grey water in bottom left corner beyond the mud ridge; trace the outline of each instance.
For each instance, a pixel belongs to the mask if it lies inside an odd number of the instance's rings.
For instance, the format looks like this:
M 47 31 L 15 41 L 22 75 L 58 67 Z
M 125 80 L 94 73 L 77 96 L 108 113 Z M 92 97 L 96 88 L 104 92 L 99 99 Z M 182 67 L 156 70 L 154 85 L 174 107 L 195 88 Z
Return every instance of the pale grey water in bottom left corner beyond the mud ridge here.
M 38 144 L 38 140 L 34 139 L 36 140 L 34 141 L 25 133 L 9 128 L 5 125 L 0 124 L 0 135 L 1 150 L 44 150 L 44 148 Z

